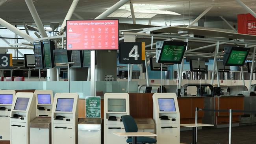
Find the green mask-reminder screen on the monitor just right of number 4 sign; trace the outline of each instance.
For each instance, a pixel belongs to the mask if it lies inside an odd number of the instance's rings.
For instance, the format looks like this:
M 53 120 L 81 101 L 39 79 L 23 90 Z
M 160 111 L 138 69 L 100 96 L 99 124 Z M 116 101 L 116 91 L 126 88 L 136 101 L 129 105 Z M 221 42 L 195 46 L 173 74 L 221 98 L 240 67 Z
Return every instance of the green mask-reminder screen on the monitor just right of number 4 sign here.
M 184 46 L 170 46 L 165 45 L 163 47 L 163 53 L 161 55 L 161 61 L 180 61 L 182 59 Z

